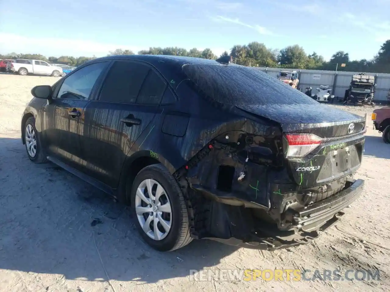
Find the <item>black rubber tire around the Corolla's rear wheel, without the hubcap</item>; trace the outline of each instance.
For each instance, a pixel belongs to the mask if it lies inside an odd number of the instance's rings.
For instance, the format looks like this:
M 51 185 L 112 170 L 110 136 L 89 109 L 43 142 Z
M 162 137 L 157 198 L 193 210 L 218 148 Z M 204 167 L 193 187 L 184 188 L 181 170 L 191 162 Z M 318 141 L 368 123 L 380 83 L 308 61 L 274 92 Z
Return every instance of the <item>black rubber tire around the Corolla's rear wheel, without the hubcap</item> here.
M 165 190 L 171 205 L 172 223 L 167 236 L 161 240 L 154 240 L 149 237 L 141 227 L 135 211 L 135 198 L 138 186 L 145 179 L 153 179 L 158 182 Z M 192 241 L 190 237 L 190 225 L 188 220 L 188 212 L 183 193 L 176 179 L 168 172 L 161 164 L 152 164 L 144 167 L 134 179 L 131 190 L 131 210 L 135 217 L 135 225 L 144 241 L 160 252 L 168 252 L 177 250 Z M 152 221 L 153 222 L 153 221 Z

